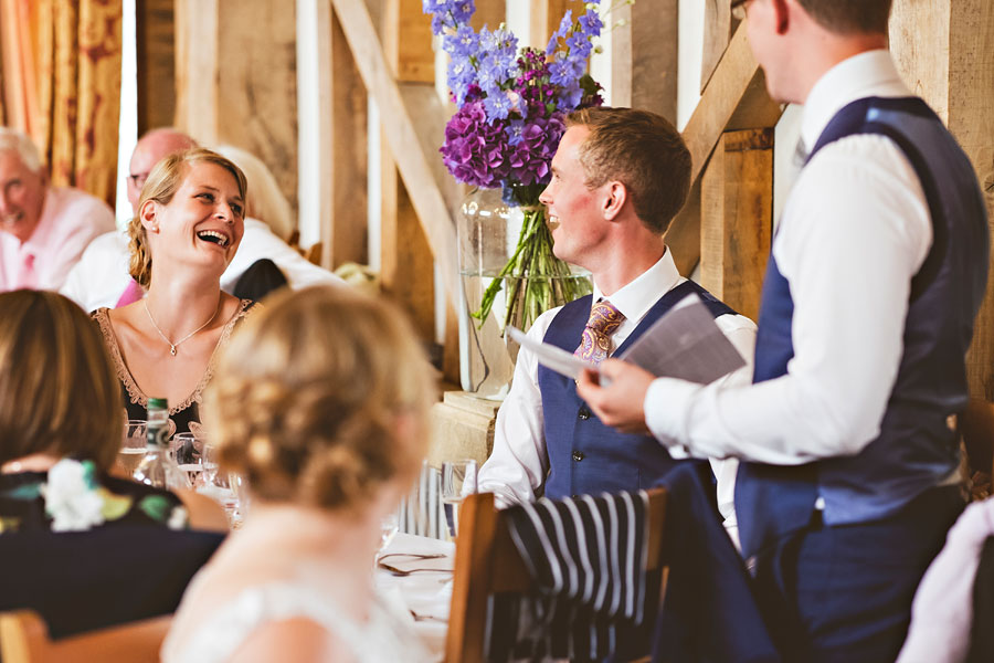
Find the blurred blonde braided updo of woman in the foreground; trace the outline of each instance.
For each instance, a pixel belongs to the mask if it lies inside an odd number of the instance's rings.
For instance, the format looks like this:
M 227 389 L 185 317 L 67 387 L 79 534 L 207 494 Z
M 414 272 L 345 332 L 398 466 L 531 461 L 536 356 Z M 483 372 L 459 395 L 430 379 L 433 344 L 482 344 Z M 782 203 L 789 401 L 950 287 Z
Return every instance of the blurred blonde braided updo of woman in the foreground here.
M 356 512 L 416 475 L 431 376 L 395 306 L 341 287 L 284 291 L 224 348 L 204 418 L 221 464 L 256 497 Z

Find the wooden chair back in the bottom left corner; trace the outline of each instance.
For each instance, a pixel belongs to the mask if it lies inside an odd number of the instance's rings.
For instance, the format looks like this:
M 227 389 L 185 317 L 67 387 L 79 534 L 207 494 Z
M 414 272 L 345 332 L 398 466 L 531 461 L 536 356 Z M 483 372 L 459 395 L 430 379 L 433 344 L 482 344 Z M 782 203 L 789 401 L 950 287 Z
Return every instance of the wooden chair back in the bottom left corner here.
M 129 622 L 52 640 L 33 610 L 0 612 L 0 660 L 3 663 L 156 663 L 172 615 Z

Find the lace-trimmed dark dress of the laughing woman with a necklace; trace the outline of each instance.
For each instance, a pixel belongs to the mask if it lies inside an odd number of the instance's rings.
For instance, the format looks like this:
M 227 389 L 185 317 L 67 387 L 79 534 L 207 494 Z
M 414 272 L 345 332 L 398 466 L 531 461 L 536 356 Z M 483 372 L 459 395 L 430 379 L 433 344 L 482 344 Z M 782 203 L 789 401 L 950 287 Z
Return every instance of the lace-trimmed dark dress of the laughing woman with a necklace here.
M 208 361 L 207 370 L 203 371 L 203 377 L 200 379 L 200 382 L 198 382 L 197 388 L 181 402 L 170 403 L 169 418 L 176 424 L 177 433 L 189 431 L 191 421 L 200 422 L 200 402 L 203 397 L 204 388 L 214 375 L 218 349 L 228 345 L 231 333 L 254 307 L 255 302 L 252 299 L 241 301 L 237 312 L 235 312 L 235 314 L 231 316 L 231 319 L 224 325 L 224 329 L 221 332 L 221 338 L 218 340 L 218 346 L 214 348 L 211 360 Z M 114 368 L 117 371 L 117 379 L 120 380 L 120 391 L 124 397 L 125 408 L 128 411 L 128 419 L 145 419 L 148 411 L 148 396 L 146 396 L 138 387 L 138 383 L 131 376 L 131 371 L 128 369 L 128 365 L 125 364 L 124 357 L 120 354 L 120 346 L 117 344 L 117 335 L 114 334 L 114 328 L 110 326 L 109 311 L 109 308 L 97 308 L 91 316 L 99 325 L 101 334 L 104 336 L 104 343 L 107 346 L 107 350 L 110 352 L 110 359 L 114 360 Z

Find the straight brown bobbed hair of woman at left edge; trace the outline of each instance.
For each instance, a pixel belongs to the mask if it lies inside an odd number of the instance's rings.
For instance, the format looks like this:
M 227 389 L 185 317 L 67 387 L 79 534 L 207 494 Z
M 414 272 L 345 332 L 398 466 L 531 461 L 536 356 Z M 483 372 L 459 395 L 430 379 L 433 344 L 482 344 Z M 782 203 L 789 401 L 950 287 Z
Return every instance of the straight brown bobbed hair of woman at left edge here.
M 52 292 L 0 294 L 0 463 L 49 453 L 107 470 L 121 412 L 114 365 L 82 308 Z

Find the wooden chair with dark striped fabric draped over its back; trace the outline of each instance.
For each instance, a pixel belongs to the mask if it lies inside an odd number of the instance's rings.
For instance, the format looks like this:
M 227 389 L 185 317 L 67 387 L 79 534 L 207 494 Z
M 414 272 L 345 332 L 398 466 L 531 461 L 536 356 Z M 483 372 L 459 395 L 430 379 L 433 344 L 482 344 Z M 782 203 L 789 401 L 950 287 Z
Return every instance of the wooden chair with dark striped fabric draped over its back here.
M 648 496 L 646 570 L 655 571 L 665 567 L 666 491 L 654 488 L 648 491 Z M 660 577 L 665 578 L 665 573 Z M 459 511 L 459 537 L 445 640 L 446 663 L 484 663 L 487 597 L 499 592 L 525 593 L 532 586 L 533 580 L 511 540 L 507 522 L 494 507 L 494 495 L 467 496 Z M 649 591 L 662 592 L 662 589 L 649 588 Z M 654 615 L 646 614 L 645 619 L 652 622 Z

